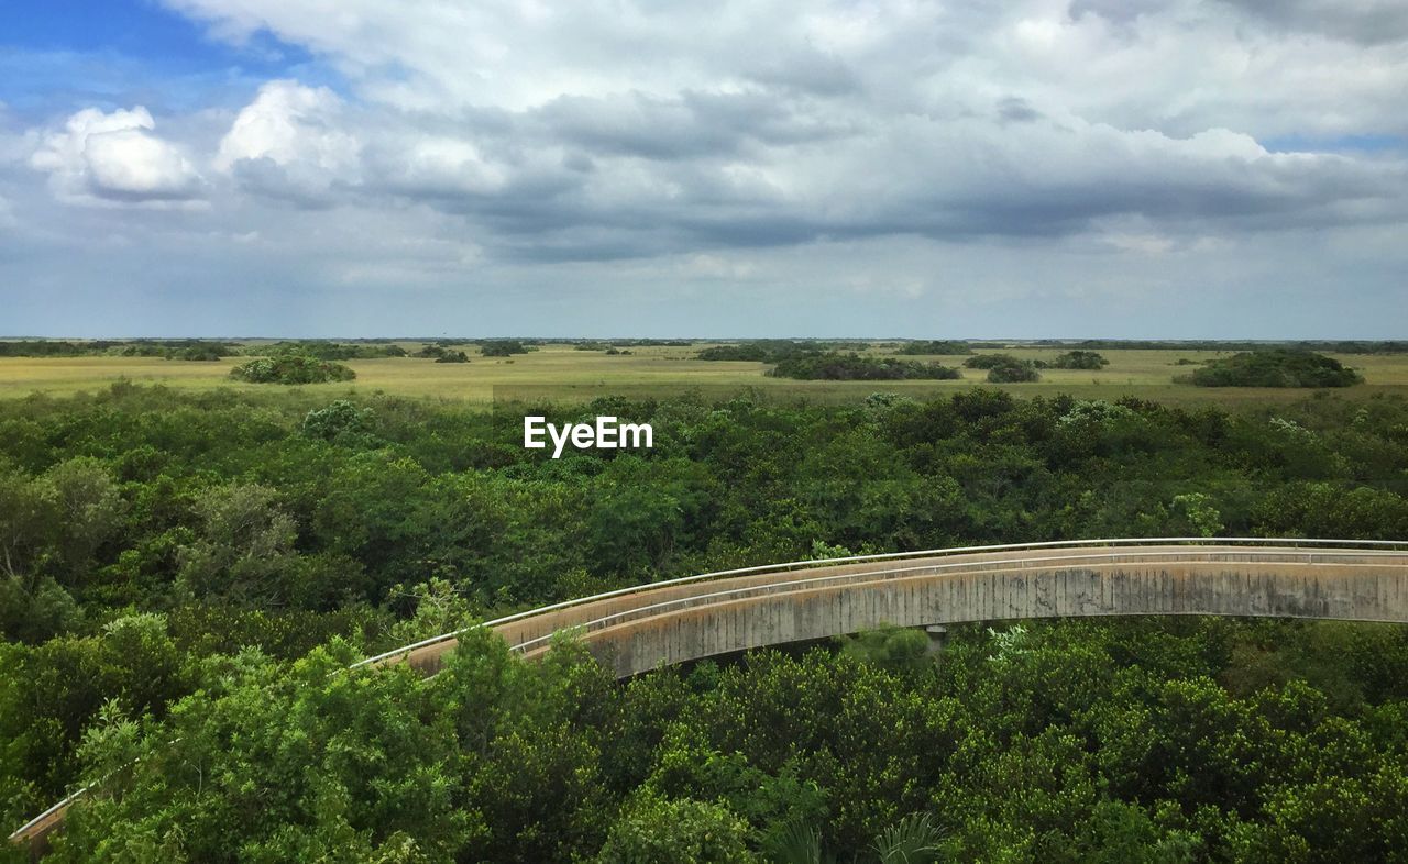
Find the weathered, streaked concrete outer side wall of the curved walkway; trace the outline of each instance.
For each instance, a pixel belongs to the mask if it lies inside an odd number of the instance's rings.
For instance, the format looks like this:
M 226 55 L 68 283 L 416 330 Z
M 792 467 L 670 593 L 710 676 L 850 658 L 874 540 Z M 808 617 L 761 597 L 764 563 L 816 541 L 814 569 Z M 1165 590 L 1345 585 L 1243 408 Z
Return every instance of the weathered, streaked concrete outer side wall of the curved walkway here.
M 1188 550 L 1183 550 L 1184 556 Z M 1301 560 L 1294 560 L 1300 557 Z M 1408 622 L 1408 563 L 1397 560 L 1070 560 L 924 568 L 893 576 L 741 591 L 628 615 L 583 633 L 627 677 L 745 649 L 855 633 L 883 623 L 1091 615 L 1233 615 Z M 542 649 L 532 649 L 528 656 Z

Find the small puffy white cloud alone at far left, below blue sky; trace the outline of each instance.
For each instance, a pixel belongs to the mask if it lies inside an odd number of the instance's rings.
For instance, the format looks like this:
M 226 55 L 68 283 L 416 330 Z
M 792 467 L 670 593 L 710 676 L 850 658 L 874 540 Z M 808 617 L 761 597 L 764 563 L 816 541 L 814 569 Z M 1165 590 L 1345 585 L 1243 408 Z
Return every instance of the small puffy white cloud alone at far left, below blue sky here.
M 58 196 L 75 203 L 170 204 L 200 196 L 201 177 L 180 148 L 152 134 L 138 106 L 104 114 L 84 108 L 44 136 L 30 166 L 48 172 Z

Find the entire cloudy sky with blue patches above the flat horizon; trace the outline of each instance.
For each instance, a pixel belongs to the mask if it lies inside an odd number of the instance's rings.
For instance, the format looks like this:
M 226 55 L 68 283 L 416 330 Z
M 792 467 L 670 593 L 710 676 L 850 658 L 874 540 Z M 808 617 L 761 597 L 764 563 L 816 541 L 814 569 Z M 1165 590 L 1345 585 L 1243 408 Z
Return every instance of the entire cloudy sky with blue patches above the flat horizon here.
M 4 0 L 0 335 L 1408 338 L 1402 0 Z

